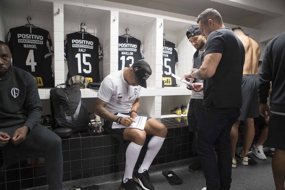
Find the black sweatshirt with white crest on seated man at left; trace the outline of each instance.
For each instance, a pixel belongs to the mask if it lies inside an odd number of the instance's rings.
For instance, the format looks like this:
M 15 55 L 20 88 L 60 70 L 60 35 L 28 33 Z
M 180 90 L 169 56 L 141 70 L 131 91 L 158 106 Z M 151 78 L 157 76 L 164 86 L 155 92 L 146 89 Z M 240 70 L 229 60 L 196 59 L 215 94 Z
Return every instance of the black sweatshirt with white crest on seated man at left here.
M 32 130 L 40 120 L 41 111 L 33 76 L 11 65 L 8 76 L 0 80 L 0 131 L 20 124 Z

